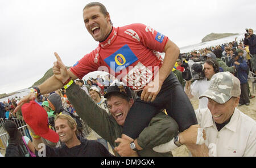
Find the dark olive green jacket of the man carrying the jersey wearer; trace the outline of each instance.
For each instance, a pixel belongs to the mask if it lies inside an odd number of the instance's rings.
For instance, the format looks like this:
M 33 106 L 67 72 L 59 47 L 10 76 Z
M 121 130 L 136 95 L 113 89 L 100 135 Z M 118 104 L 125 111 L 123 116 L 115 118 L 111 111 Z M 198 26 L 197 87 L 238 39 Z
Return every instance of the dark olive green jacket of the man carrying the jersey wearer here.
M 117 147 L 118 143 L 115 143 L 115 140 L 121 137 L 123 127 L 116 122 L 112 115 L 96 105 L 92 98 L 76 84 L 67 88 L 66 94 L 79 117 L 103 139 Z M 139 156 L 172 156 L 171 152 L 158 153 L 152 148 L 170 141 L 177 135 L 177 130 L 178 126 L 174 119 L 164 113 L 157 114 L 137 138 L 139 146 L 143 148 L 143 150 L 139 150 Z

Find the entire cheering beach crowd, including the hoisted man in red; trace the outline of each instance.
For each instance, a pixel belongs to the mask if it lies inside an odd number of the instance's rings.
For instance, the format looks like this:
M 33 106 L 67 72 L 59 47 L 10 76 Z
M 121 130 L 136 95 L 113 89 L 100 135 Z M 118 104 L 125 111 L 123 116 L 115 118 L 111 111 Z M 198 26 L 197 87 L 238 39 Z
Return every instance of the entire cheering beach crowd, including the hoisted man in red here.
M 256 156 L 256 122 L 236 108 L 250 105 L 250 57 L 256 65 L 251 29 L 239 45 L 234 41 L 179 54 L 174 42 L 144 24 L 113 27 L 101 3 L 88 3 L 83 17 L 98 47 L 69 70 L 55 53 L 53 76 L 11 112 L 27 123 L 27 144 L 34 145 L 35 156 L 113 156 L 109 146 L 114 156 L 172 156 L 182 144 L 192 156 Z M 102 66 L 113 76 L 81 80 Z M 199 79 L 192 80 L 189 67 Z M 199 109 L 193 109 L 189 94 L 202 100 Z M 97 140 L 86 139 L 81 121 Z M 10 142 L 18 135 L 6 131 Z M 20 142 L 19 136 L 15 143 Z M 9 143 L 7 156 L 14 156 L 15 143 Z M 30 153 L 23 149 L 22 156 Z

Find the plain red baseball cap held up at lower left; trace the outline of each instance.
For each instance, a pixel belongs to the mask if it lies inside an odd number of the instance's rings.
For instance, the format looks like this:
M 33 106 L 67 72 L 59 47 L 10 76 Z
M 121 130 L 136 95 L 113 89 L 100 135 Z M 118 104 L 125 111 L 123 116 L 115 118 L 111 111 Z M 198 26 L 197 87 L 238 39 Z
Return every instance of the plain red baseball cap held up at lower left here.
M 25 122 L 32 128 L 36 135 L 40 135 L 53 143 L 59 141 L 59 135 L 48 126 L 46 110 L 34 100 L 22 106 L 22 115 Z

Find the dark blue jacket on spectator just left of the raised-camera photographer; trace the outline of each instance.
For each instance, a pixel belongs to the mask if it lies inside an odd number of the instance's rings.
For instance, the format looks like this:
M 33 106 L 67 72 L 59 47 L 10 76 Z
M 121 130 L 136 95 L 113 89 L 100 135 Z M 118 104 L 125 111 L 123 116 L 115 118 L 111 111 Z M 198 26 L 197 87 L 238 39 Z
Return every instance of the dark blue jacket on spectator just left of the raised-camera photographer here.
M 235 72 L 235 76 L 240 80 L 241 84 L 247 83 L 248 81 L 248 75 L 247 75 L 247 69 L 248 69 L 248 65 L 246 63 L 246 61 L 240 57 L 237 62 L 240 63 L 240 65 L 237 64 L 232 64 L 232 66 L 236 66 L 236 72 Z

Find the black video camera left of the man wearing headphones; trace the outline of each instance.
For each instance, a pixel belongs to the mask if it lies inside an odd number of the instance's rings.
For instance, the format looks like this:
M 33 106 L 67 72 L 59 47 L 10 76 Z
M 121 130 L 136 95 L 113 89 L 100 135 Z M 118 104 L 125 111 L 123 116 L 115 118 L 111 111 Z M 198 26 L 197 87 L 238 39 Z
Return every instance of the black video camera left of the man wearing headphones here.
M 194 62 L 190 59 L 187 68 L 182 72 L 182 77 L 186 81 L 204 79 L 204 62 Z

